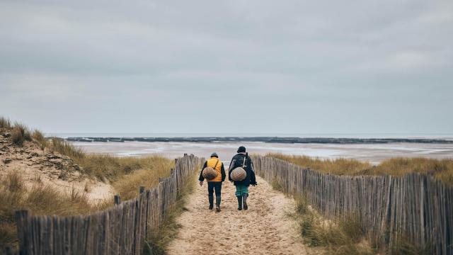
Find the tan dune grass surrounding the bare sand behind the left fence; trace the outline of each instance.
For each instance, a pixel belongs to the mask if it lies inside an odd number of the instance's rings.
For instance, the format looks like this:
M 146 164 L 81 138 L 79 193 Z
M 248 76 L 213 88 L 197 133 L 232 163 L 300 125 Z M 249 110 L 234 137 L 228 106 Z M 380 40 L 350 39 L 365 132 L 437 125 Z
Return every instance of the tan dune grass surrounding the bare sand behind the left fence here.
M 61 138 L 46 138 L 39 130 L 31 132 L 21 123 L 11 125 L 11 121 L 3 117 L 0 117 L 0 128 L 11 131 L 13 145 L 34 142 L 40 149 L 73 159 L 75 164 L 81 166 L 82 174 L 110 181 L 122 200 L 137 196 L 139 186 L 156 186 L 159 178 L 168 176 L 174 167 L 173 160 L 159 156 L 120 158 L 106 154 L 86 154 Z M 19 171 L 0 178 L 0 252 L 5 246 L 17 247 L 16 210 L 27 209 L 34 215 L 86 215 L 113 205 L 113 198 L 94 205 L 90 203 L 86 194 L 89 186 L 85 187 L 85 191 L 72 188 L 64 192 L 46 186 L 40 181 L 40 176 L 31 181 L 25 181 Z

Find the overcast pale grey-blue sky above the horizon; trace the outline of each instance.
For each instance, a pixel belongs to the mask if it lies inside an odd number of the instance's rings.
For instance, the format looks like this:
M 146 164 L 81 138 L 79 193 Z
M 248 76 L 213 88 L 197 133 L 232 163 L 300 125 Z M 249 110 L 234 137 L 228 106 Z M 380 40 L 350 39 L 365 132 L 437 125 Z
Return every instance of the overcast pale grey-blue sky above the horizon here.
M 453 1 L 0 0 L 44 132 L 452 133 Z

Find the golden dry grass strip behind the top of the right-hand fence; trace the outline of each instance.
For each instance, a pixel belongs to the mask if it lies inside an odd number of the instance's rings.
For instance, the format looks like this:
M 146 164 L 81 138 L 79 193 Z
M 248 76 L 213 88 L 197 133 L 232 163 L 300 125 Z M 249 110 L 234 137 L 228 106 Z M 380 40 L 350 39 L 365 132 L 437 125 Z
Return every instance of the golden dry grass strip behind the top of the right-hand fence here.
M 309 167 L 324 174 L 403 176 L 410 173 L 432 174 L 436 179 L 453 185 L 453 159 L 403 158 L 386 159 L 377 166 L 357 159 L 319 159 L 306 156 L 267 154 L 266 156 Z

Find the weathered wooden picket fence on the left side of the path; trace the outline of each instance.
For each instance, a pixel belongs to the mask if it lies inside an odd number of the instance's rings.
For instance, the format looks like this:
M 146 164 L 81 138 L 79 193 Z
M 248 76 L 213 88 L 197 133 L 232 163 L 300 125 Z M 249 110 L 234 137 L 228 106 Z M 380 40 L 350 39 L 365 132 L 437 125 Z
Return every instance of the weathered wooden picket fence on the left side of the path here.
M 141 254 L 147 233 L 159 227 L 180 188 L 202 163 L 187 154 L 175 161 L 176 168 L 159 186 L 108 210 L 69 217 L 17 211 L 20 254 Z

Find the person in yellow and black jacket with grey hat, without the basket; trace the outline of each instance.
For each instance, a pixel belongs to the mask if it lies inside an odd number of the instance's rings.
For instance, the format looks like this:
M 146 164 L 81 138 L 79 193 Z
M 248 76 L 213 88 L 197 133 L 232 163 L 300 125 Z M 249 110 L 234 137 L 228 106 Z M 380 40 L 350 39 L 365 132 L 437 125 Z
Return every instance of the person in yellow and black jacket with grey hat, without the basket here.
M 225 169 L 224 164 L 219 160 L 217 153 L 212 153 L 211 158 L 208 159 L 200 172 L 200 186 L 203 186 L 203 169 L 207 166 L 211 166 L 215 171 L 217 171 L 217 177 L 212 180 L 207 180 L 207 198 L 210 201 L 210 210 L 214 207 L 214 190 L 215 190 L 215 210 L 220 212 L 220 201 L 222 200 L 222 182 L 225 181 Z

